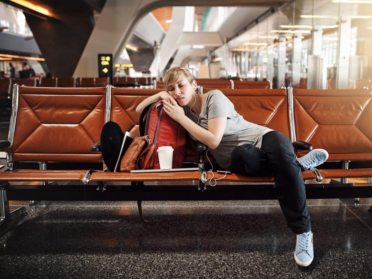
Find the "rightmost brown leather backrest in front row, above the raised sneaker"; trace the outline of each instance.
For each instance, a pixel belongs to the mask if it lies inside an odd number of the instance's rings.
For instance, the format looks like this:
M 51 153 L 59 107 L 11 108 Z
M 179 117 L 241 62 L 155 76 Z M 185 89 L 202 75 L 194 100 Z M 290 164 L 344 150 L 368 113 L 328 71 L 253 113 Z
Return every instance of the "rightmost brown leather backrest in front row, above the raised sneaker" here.
M 293 89 L 296 140 L 329 161 L 372 160 L 372 90 Z

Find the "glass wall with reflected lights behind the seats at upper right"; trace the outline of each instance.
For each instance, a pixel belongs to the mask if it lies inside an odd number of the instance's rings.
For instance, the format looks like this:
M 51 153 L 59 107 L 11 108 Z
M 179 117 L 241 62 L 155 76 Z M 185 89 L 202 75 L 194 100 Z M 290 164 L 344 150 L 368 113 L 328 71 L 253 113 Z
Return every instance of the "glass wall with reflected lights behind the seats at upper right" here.
M 371 87 L 372 2 L 361 2 L 297 0 L 216 49 L 213 67 L 274 88 Z

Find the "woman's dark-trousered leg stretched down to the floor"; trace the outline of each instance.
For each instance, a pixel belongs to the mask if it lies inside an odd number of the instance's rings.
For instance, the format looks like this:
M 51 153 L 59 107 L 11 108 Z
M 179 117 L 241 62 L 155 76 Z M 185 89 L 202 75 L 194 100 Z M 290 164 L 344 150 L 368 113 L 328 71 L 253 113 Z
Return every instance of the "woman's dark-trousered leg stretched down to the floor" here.
M 261 149 L 269 157 L 280 207 L 295 234 L 311 230 L 305 184 L 292 142 L 284 134 L 271 131 L 262 138 Z

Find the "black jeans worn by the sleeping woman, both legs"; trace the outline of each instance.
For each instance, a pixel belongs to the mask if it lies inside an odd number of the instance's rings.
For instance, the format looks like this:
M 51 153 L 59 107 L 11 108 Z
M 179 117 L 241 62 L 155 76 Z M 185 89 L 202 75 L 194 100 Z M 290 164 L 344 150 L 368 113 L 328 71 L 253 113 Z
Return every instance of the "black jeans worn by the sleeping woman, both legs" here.
M 311 230 L 301 167 L 288 137 L 270 131 L 263 135 L 261 148 L 251 144 L 235 147 L 230 157 L 230 171 L 251 176 L 274 174 L 276 195 L 288 227 L 295 234 Z

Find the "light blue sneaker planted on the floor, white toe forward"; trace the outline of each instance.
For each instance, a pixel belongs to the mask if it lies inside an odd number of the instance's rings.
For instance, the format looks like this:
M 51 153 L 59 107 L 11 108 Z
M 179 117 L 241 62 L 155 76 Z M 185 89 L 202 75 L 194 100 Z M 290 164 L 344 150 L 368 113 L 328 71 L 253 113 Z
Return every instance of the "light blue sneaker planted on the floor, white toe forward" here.
M 297 234 L 295 260 L 300 266 L 308 266 L 314 259 L 314 248 L 312 246 L 312 232 Z

